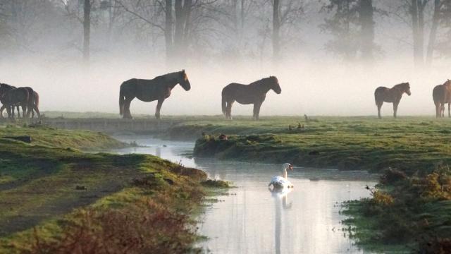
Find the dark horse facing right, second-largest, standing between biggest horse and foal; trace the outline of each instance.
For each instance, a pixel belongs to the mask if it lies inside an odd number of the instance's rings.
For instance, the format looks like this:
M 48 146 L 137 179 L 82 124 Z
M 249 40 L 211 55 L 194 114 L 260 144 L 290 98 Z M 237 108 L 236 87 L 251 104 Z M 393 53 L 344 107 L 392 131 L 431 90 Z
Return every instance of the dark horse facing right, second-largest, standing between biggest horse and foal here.
M 239 83 L 230 83 L 223 88 L 222 91 L 222 109 L 226 119 L 232 119 L 233 102 L 240 104 L 254 104 L 254 114 L 252 118 L 259 120 L 260 107 L 266 98 L 266 93 L 273 90 L 276 94 L 280 94 L 279 81 L 276 77 L 270 76 L 257 80 L 249 85 Z

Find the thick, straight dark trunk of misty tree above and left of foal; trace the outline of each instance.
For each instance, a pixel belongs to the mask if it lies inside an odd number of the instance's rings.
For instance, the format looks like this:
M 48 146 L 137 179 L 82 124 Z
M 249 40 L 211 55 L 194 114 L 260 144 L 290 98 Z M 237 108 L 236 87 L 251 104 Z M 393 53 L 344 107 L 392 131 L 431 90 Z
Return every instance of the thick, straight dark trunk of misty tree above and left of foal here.
M 359 6 L 360 36 L 362 59 L 373 61 L 374 52 L 374 20 L 373 1 L 360 0 Z

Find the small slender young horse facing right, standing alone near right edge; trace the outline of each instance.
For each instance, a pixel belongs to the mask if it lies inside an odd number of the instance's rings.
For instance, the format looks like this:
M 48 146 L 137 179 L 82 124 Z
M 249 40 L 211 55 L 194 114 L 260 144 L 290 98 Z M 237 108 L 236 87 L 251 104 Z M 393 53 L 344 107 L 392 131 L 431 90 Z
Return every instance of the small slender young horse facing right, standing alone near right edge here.
M 410 84 L 400 83 L 394 85 L 391 88 L 388 87 L 377 87 L 374 91 L 374 99 L 376 100 L 376 106 L 378 107 L 378 117 L 381 119 L 381 107 L 383 102 L 393 103 L 393 117 L 396 118 L 397 105 L 400 104 L 402 94 L 407 93 L 411 95 Z

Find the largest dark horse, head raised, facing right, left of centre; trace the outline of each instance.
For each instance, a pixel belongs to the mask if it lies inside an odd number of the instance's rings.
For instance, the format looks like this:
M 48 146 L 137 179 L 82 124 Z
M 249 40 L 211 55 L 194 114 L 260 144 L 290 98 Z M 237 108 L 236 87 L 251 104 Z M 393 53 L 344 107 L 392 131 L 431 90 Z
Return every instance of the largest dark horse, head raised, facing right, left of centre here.
M 132 99 L 138 98 L 143 102 L 158 100 L 156 104 L 155 117 L 161 119 L 160 110 L 164 100 L 171 95 L 175 85 L 180 84 L 185 91 L 191 89 L 190 80 L 185 70 L 160 75 L 152 80 L 132 78 L 121 84 L 119 92 L 119 113 L 124 119 L 132 119 L 130 114 L 130 103 Z

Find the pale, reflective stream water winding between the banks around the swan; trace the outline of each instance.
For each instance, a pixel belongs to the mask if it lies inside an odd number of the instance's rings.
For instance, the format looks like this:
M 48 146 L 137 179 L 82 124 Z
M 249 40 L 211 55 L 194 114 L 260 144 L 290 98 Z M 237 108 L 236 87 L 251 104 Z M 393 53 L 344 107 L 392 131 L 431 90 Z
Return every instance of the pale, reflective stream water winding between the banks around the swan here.
M 187 167 L 206 171 L 212 179 L 232 181 L 226 195 L 207 207 L 199 243 L 212 253 L 362 253 L 340 229 L 345 219 L 340 203 L 369 196 L 365 186 L 374 176 L 357 171 L 295 168 L 290 193 L 268 193 L 268 179 L 280 165 L 217 161 L 182 156 L 194 143 L 155 140 L 148 137 L 119 138 L 148 147 L 119 153 L 150 153 Z M 312 179 L 312 180 L 311 180 Z M 288 195 L 290 200 L 288 200 Z

